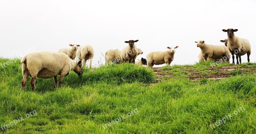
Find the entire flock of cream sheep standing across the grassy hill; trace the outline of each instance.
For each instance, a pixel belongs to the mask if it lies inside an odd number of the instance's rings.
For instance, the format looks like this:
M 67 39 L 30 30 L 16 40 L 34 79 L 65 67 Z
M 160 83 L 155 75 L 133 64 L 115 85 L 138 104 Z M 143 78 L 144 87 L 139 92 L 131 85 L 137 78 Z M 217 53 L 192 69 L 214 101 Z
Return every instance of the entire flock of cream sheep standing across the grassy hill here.
M 198 61 L 213 60 L 218 62 L 228 62 L 232 57 L 232 63 L 241 64 L 241 56 L 247 54 L 247 60 L 250 62 L 251 44 L 247 39 L 235 36 L 234 32 L 237 29 L 223 29 L 227 32 L 228 38 L 220 40 L 224 45 L 209 45 L 204 40 L 195 41 L 196 46 L 201 49 L 198 55 Z M 105 65 L 113 62 L 131 63 L 137 66 L 153 67 L 154 65 L 165 64 L 170 66 L 174 60 L 174 54 L 179 46 L 168 46 L 166 51 L 156 51 L 148 53 L 146 59 L 141 58 L 136 60 L 137 56 L 143 54 L 140 48 L 137 48 L 139 40 L 124 41 L 128 45 L 123 49 L 110 49 L 105 53 Z M 36 78 L 54 79 L 53 88 L 61 87 L 61 82 L 64 76 L 67 76 L 73 70 L 79 76 L 83 73 L 82 67 L 85 66 L 86 61 L 90 60 L 89 67 L 92 67 L 92 58 L 94 56 L 94 49 L 91 45 L 80 46 L 77 44 L 70 44 L 72 48 L 62 48 L 58 52 L 52 51 L 36 51 L 26 54 L 21 59 L 22 64 L 22 88 L 25 88 L 28 76 L 31 77 L 31 87 L 35 91 Z M 138 46 L 140 44 L 138 43 Z M 77 57 L 78 62 L 75 61 Z M 239 60 L 238 60 L 239 59 Z M 60 75 L 59 81 L 57 76 Z

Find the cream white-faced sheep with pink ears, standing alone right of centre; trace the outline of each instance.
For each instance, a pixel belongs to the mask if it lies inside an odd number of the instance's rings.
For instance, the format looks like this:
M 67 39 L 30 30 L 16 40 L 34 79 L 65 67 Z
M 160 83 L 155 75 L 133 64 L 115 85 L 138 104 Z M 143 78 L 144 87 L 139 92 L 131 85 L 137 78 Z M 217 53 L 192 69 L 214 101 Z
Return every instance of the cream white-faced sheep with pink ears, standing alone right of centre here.
M 154 65 L 164 64 L 170 66 L 174 59 L 175 49 L 179 46 L 167 47 L 169 50 L 164 52 L 151 52 L 147 55 L 147 67 L 153 67 Z

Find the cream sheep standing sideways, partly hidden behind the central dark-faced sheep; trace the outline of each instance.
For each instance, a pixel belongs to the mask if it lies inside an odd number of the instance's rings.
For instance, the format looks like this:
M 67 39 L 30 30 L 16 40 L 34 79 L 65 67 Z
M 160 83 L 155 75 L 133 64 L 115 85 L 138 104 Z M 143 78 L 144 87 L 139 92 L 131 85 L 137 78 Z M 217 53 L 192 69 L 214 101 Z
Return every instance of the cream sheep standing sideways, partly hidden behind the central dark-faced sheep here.
M 143 51 L 138 48 L 138 54 L 137 55 L 140 55 L 142 54 Z M 105 53 L 105 64 L 107 64 L 108 62 L 114 62 L 114 63 L 117 63 L 119 64 L 121 62 L 121 51 L 120 50 L 115 50 L 115 49 L 110 49 L 108 50 L 106 53 Z

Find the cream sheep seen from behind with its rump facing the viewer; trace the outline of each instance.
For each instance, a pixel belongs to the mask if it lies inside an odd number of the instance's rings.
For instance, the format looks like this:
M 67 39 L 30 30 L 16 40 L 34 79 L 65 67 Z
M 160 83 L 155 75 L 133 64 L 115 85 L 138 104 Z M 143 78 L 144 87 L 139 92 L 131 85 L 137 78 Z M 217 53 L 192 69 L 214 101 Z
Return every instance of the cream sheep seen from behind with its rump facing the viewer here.
M 94 49 L 90 45 L 81 46 L 77 50 L 77 58 L 78 60 L 83 61 L 83 66 L 87 60 L 90 59 L 90 68 L 92 68 L 92 58 L 94 56 Z

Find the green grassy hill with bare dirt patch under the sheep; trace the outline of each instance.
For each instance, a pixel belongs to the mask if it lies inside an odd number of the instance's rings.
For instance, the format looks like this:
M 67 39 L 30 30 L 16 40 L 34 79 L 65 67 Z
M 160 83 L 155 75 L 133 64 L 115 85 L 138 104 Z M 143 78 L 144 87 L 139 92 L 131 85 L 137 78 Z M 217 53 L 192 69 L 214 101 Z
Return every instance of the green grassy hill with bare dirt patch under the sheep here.
M 256 64 L 211 64 L 84 68 L 33 92 L 13 60 L 0 66 L 0 133 L 256 133 Z

